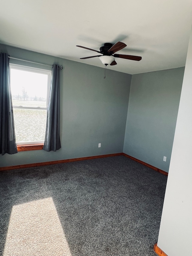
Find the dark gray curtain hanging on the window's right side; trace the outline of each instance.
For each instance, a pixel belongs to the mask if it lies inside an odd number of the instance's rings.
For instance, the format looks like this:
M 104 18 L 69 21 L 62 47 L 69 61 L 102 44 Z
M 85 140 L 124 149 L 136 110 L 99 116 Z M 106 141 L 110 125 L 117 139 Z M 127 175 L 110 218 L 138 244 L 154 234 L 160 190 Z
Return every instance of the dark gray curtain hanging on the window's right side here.
M 58 65 L 53 65 L 47 122 L 45 132 L 45 151 L 56 151 L 61 148 L 59 137 L 59 71 Z

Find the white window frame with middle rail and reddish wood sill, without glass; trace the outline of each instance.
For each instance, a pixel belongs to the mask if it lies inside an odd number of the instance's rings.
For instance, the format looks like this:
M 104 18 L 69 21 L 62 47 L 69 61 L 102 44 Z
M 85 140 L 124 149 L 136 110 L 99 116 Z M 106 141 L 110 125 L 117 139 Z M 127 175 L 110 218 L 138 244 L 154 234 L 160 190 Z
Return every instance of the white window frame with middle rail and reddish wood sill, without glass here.
M 48 75 L 46 107 L 13 106 L 13 108 L 19 108 L 19 109 L 46 110 L 46 113 L 47 113 L 48 104 L 49 104 L 49 94 L 50 94 L 52 71 L 49 70 L 49 69 L 30 67 L 30 66 L 27 66 L 27 65 L 20 65 L 20 64 L 14 64 L 14 63 L 9 63 L 9 68 L 10 68 L 10 70 L 11 69 L 16 69 L 16 70 L 21 70 L 21 71 L 27 71 L 27 72 L 33 72 L 33 73 Z M 11 82 L 11 76 L 10 76 L 10 82 Z M 17 145 L 17 151 L 39 150 L 39 149 L 43 149 L 44 141 L 16 142 L 16 145 Z

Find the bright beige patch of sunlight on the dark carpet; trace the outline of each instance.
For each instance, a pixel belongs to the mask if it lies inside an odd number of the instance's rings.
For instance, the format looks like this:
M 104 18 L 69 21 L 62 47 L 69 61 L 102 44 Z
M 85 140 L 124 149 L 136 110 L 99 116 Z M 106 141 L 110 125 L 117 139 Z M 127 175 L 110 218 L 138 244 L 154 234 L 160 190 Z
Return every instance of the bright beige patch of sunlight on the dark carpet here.
M 72 256 L 52 197 L 14 205 L 3 256 Z

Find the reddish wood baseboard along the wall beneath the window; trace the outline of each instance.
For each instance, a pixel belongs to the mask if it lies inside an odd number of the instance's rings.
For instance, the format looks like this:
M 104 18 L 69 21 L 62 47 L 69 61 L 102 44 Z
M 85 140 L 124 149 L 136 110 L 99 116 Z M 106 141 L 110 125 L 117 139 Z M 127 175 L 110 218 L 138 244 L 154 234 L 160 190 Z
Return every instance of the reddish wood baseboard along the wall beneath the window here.
M 115 154 L 108 154 L 108 155 L 95 155 L 95 156 L 48 161 L 48 162 L 34 163 L 34 164 L 20 164 L 20 165 L 13 165 L 13 166 L 5 166 L 5 167 L 0 167 L 0 171 L 37 167 L 37 166 L 50 165 L 50 164 L 62 164 L 62 163 L 68 163 L 68 162 L 75 162 L 75 161 L 82 161 L 82 160 L 89 160 L 89 159 L 96 159 L 96 158 L 104 158 L 104 157 L 118 156 L 118 155 L 122 155 L 122 153 L 115 153 Z

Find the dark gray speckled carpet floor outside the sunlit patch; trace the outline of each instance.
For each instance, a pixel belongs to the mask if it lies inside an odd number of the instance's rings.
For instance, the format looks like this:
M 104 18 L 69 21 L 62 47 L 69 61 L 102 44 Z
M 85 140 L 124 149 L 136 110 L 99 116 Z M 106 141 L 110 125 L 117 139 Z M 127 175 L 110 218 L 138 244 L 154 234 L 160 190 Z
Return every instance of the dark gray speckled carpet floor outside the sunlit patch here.
M 2 171 L 0 253 L 12 206 L 52 197 L 73 256 L 157 256 L 166 182 L 124 156 Z

